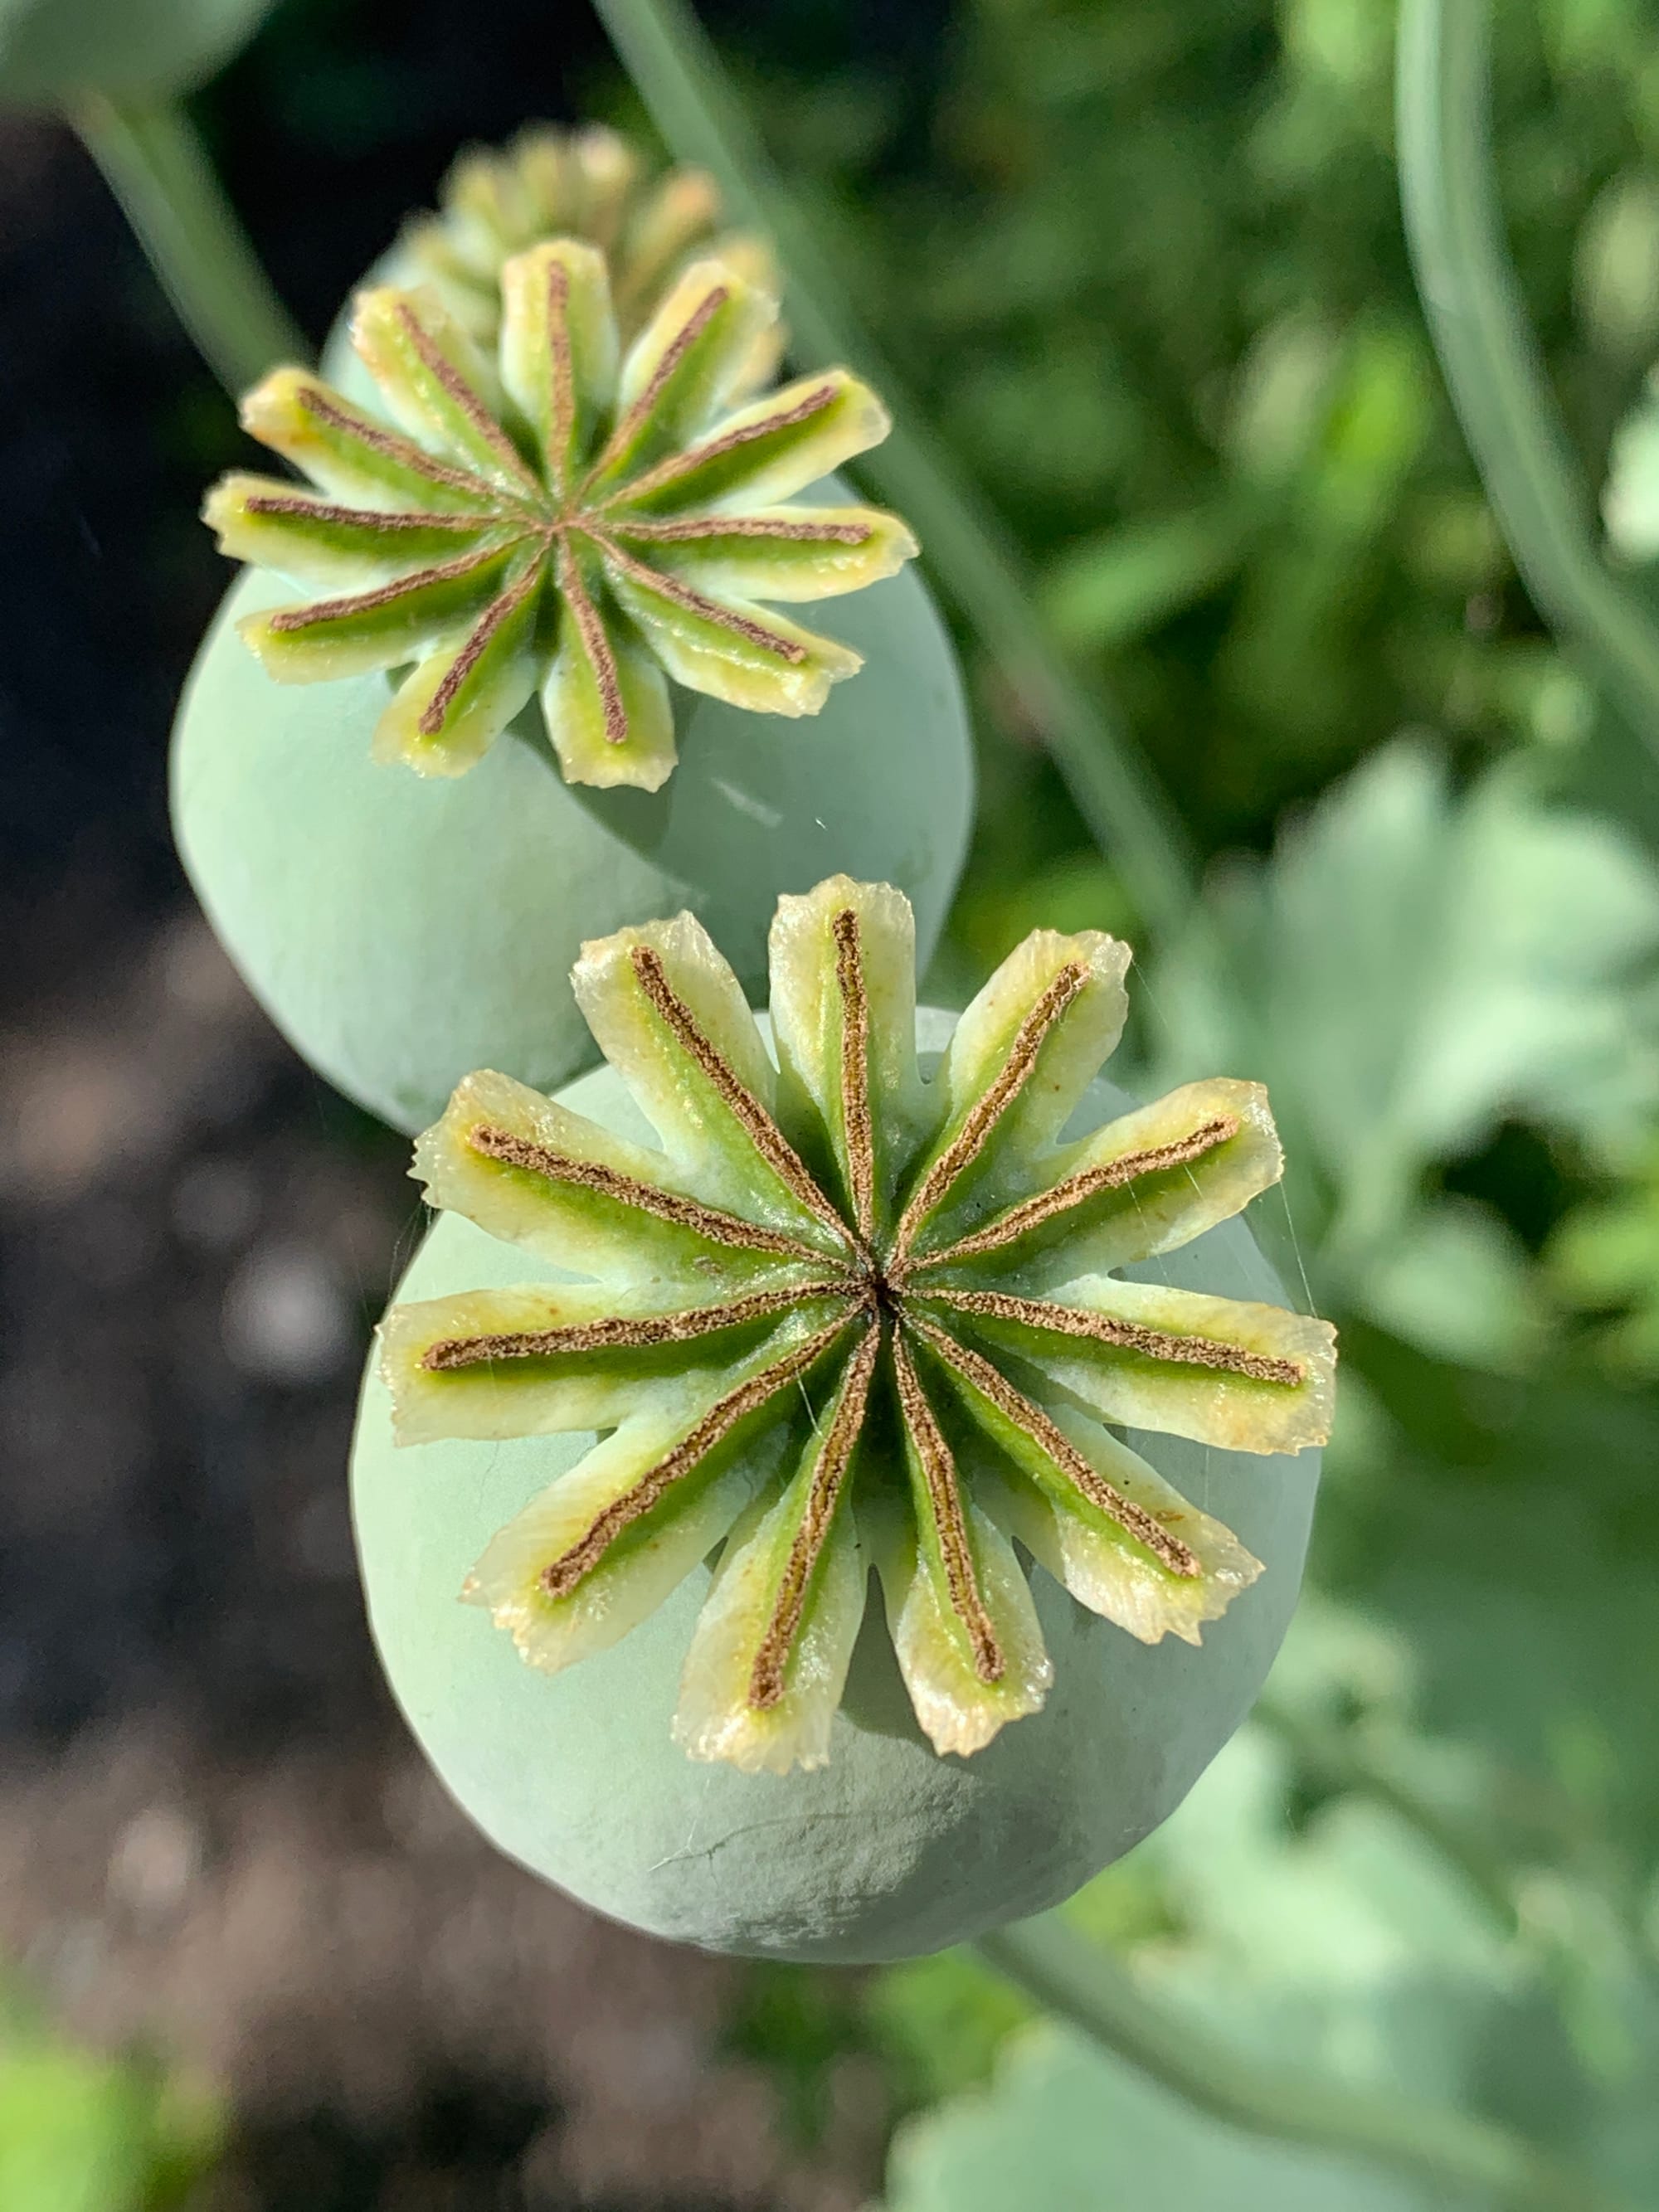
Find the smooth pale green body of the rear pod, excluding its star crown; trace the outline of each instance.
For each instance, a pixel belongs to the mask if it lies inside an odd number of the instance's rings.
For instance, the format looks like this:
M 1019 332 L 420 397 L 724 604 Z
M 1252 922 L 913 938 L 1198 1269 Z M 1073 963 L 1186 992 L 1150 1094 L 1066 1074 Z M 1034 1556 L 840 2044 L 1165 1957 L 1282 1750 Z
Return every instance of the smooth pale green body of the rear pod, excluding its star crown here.
M 779 894 L 898 885 L 927 962 L 967 854 L 973 752 L 945 624 L 914 571 L 814 619 L 865 655 L 787 721 L 675 692 L 659 792 L 566 785 L 540 706 L 469 774 L 369 759 L 389 679 L 274 684 L 234 630 L 292 599 L 248 573 L 173 732 L 173 827 L 219 940 L 283 1035 L 405 1130 L 473 1068 L 553 1091 L 595 1060 L 568 971 L 586 938 L 690 907 L 765 995 Z

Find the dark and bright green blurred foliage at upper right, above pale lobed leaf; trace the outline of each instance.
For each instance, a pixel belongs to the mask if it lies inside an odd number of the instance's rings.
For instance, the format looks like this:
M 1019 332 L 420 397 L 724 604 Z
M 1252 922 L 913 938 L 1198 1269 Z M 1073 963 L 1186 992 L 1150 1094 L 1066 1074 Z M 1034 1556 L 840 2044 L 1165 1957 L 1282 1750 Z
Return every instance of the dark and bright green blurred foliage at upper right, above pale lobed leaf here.
M 1517 257 L 1597 467 L 1659 332 L 1650 29 L 1641 0 L 1502 24 Z M 1402 726 L 1460 761 L 1571 750 L 1582 701 L 1515 595 L 1411 292 L 1391 11 L 960 0 L 945 51 L 925 128 L 856 64 L 768 75 L 754 106 L 1199 838 L 1261 843 Z M 982 898 L 1082 843 L 1020 703 L 993 706 L 1026 743 L 989 763 L 969 942 Z

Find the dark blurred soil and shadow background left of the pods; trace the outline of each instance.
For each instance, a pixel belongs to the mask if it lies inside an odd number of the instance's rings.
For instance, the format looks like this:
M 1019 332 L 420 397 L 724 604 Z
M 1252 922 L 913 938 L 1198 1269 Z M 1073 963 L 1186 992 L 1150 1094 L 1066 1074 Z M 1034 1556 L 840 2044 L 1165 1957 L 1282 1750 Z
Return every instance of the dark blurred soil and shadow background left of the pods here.
M 925 100 L 927 15 L 710 13 Z M 290 0 L 197 119 L 321 336 L 462 142 L 615 95 L 577 9 Z M 0 117 L 0 1958 L 228 2088 L 237 2212 L 849 2212 L 880 2079 L 807 2157 L 743 1971 L 498 1860 L 378 1681 L 343 1453 L 407 1146 L 270 1031 L 166 830 L 241 458 L 77 142 Z

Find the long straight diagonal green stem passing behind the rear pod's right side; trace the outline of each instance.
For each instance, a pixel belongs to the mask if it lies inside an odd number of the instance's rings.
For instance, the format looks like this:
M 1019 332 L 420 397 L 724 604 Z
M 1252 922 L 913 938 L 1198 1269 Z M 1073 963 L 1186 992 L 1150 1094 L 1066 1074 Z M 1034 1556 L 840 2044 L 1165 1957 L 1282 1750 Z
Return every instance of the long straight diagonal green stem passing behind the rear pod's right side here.
M 1110 701 L 1055 648 L 1006 529 L 962 482 L 883 365 L 812 226 L 790 208 L 688 0 L 595 0 L 595 7 L 675 155 L 712 170 L 730 212 L 776 239 L 790 323 L 805 352 L 849 361 L 891 403 L 898 427 L 865 456 L 865 476 L 914 524 L 933 575 L 1042 730 L 1077 812 L 1146 925 L 1175 936 L 1197 896 L 1197 858 L 1179 814 Z

